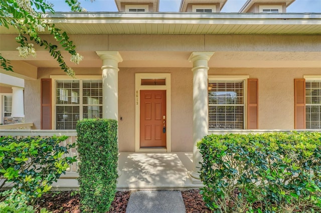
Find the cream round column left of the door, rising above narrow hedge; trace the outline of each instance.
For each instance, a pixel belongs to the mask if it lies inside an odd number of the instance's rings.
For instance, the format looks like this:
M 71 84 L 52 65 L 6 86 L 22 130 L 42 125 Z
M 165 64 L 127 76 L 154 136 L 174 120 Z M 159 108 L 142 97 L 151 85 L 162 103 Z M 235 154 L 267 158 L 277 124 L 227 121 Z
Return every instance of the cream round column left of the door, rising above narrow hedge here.
M 122 58 L 118 51 L 96 51 L 102 59 L 102 117 L 118 121 L 118 63 Z

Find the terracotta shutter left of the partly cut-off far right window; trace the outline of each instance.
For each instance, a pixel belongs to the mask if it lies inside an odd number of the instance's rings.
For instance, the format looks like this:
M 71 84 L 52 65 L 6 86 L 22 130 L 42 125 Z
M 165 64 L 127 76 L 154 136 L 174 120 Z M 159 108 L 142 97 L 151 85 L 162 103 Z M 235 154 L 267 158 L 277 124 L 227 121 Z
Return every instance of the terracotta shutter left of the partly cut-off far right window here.
M 294 79 L 294 128 L 305 128 L 305 79 Z

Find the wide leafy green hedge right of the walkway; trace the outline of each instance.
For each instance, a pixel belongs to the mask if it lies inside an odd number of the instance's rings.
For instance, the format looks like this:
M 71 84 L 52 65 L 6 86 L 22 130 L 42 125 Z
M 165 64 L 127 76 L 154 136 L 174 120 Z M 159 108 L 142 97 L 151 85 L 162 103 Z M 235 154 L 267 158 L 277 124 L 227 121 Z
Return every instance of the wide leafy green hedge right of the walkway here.
M 321 133 L 212 134 L 198 147 L 215 212 L 321 212 Z

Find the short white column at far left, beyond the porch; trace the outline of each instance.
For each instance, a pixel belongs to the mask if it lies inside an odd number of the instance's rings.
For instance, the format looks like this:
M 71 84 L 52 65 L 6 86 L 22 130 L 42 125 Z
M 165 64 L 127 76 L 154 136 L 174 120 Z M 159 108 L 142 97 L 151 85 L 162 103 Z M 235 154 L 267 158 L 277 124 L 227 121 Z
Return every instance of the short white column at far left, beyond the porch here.
M 24 117 L 24 88 L 12 87 L 12 117 Z

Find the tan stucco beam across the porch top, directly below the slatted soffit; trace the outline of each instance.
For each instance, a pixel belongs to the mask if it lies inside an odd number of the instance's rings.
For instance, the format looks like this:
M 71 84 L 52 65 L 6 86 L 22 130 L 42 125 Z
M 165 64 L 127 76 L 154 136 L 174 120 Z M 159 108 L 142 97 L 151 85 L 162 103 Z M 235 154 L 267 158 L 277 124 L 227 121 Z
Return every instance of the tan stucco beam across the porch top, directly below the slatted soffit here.
M 12 34 L 1 35 L 2 51 L 17 51 Z M 249 34 L 70 34 L 77 51 L 319 51 L 319 35 L 249 35 Z M 44 39 L 52 41 L 49 35 Z M 53 41 L 53 43 L 56 43 Z M 35 46 L 37 52 L 42 47 Z M 44 51 L 47 53 L 47 51 Z M 18 59 L 17 55 L 17 59 Z M 68 58 L 68 57 L 67 57 Z

